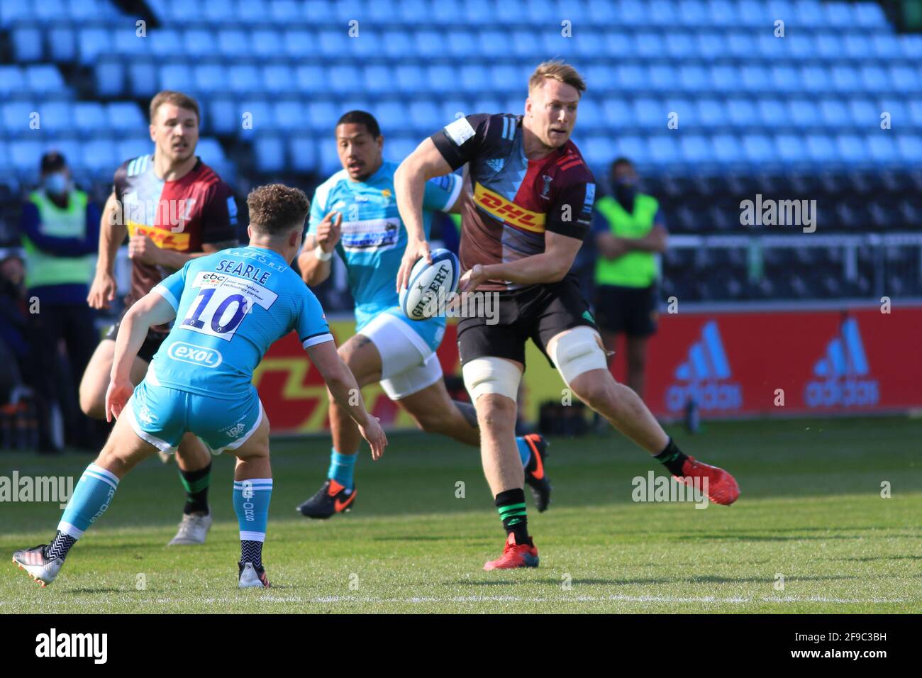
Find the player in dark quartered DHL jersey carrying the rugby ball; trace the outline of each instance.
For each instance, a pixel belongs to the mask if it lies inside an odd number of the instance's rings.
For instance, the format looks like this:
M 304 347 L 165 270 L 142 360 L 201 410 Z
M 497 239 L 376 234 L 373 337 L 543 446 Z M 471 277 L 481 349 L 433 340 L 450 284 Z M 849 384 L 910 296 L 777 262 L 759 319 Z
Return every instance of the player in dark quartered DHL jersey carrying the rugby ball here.
M 460 254 L 466 273 L 461 291 L 499 294 L 498 323 L 488 324 L 485 317 L 458 323 L 483 470 L 508 535 L 502 555 L 486 563 L 487 570 L 538 566 L 514 441 L 527 339 L 578 398 L 681 482 L 694 482 L 717 504 L 732 504 L 739 496 L 733 476 L 684 455 L 643 400 L 615 381 L 595 320 L 570 273 L 589 232 L 596 188 L 570 140 L 584 91 L 585 82 L 573 66 L 560 61 L 538 65 L 528 80 L 525 115 L 459 118 L 424 140 L 394 177 L 408 230 L 398 290 L 407 286 L 420 257 L 431 260 L 422 228 L 425 182 L 467 164 L 473 195 L 462 214 Z

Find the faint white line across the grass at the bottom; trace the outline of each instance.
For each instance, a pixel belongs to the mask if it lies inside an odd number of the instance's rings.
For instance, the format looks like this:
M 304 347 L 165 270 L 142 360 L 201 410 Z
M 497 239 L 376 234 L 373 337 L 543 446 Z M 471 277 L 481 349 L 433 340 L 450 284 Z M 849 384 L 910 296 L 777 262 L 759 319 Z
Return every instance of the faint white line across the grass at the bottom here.
M 126 593 L 128 591 L 125 591 Z M 427 604 L 427 603 L 436 603 L 436 602 L 667 602 L 667 603 L 695 603 L 695 602 L 708 602 L 708 603 L 731 603 L 731 604 L 740 604 L 740 603 L 751 603 L 751 602 L 834 602 L 834 603 L 888 603 L 888 602 L 906 602 L 907 599 L 904 598 L 826 598 L 821 596 L 808 596 L 808 597 L 797 597 L 797 596 L 786 596 L 784 598 L 779 597 L 761 597 L 761 598 L 746 598 L 746 597 L 734 597 L 734 598 L 717 598 L 715 596 L 700 596 L 700 597 L 673 597 L 673 596 L 625 596 L 625 595 L 612 595 L 612 596 L 570 596 L 570 597 L 559 597 L 559 598 L 528 598 L 524 596 L 453 596 L 449 598 L 437 598 L 437 597 L 410 597 L 410 598 L 372 598 L 372 597 L 359 597 L 359 596 L 320 596 L 317 598 L 301 598 L 293 596 L 274 596 L 274 595 L 257 595 L 255 598 L 200 598 L 189 600 L 187 598 L 155 598 L 155 599 L 141 599 L 136 601 L 130 601 L 138 605 L 146 604 L 169 604 L 169 603 L 233 603 L 233 602 L 246 602 L 252 603 L 254 601 L 258 602 L 279 602 L 279 603 L 290 603 L 290 602 L 300 602 L 300 603 L 315 603 L 315 604 L 328 604 L 328 603 L 379 603 L 379 602 L 396 602 L 396 603 L 409 603 L 414 605 Z M 0 601 L 0 606 L 7 604 L 11 601 Z M 100 601 L 67 601 L 68 605 L 99 605 Z M 21 601 L 18 602 L 21 604 Z

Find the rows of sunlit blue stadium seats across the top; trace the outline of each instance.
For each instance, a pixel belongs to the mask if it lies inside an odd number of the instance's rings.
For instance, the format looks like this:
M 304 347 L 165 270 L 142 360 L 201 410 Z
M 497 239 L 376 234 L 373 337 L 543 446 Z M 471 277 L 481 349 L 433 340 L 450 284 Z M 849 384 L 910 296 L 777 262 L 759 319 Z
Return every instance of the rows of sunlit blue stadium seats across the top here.
M 593 164 L 630 149 L 642 163 L 687 168 L 905 165 L 917 161 L 922 137 L 922 36 L 896 34 L 869 0 L 148 6 L 160 25 L 138 37 L 136 18 L 107 0 L 3 3 L 0 30 L 9 31 L 18 65 L 0 65 L 0 139 L 23 140 L 25 107 L 38 110 L 34 102 L 42 101 L 49 138 L 76 131 L 104 149 L 97 137 L 106 129 L 118 139 L 145 123 L 143 110 L 119 100 L 183 89 L 201 102 L 203 134 L 249 145 L 257 165 L 272 172 L 306 171 L 311 162 L 335 167 L 325 148 L 347 108 L 371 109 L 389 144 L 418 140 L 458 112 L 521 112 L 527 74 L 548 54 L 573 59 L 585 74 L 577 136 L 591 139 L 584 152 Z M 774 37 L 778 17 L 786 21 L 784 38 Z M 564 18 L 571 38 L 561 35 Z M 349 34 L 352 20 L 357 37 Z M 56 66 L 75 62 L 91 68 L 95 93 L 115 103 L 75 101 Z M 890 130 L 880 128 L 884 111 Z M 666 126 L 672 112 L 679 113 L 676 130 Z M 278 142 L 267 137 L 257 151 L 261 135 L 242 125 L 243 113 Z

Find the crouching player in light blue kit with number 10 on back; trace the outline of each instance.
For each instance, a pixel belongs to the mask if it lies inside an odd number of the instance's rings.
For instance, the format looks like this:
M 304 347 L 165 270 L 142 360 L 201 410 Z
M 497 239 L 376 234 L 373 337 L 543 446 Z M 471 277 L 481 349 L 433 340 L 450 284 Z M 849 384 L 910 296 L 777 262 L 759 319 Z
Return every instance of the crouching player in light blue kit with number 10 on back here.
M 106 393 L 106 418 L 117 420 L 112 434 L 77 482 L 52 543 L 13 554 L 13 562 L 42 587 L 57 577 L 70 548 L 109 508 L 124 474 L 159 449 L 174 452 L 186 433 L 197 435 L 213 454 L 228 450 L 237 457 L 238 586 L 269 586 L 262 563 L 272 495 L 269 422 L 253 371 L 272 342 L 291 330 L 341 411 L 372 446 L 372 458 L 383 454 L 387 438 L 337 354 L 324 310 L 290 268 L 301 249 L 307 196 L 272 184 L 254 189 L 247 205 L 248 246 L 192 259 L 124 315 Z M 133 388 L 131 365 L 148 328 L 174 319 L 144 381 Z

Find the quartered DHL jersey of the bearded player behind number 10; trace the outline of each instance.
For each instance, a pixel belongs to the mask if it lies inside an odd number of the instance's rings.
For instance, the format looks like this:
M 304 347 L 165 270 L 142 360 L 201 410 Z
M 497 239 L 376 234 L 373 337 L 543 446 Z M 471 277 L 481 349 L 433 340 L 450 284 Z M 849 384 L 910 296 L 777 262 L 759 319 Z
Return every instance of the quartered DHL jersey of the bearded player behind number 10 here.
M 201 160 L 182 178 L 165 182 L 154 172 L 154 156 L 142 155 L 122 163 L 114 184 L 129 235 L 147 235 L 160 248 L 184 253 L 201 252 L 203 244 L 237 242 L 231 188 Z M 172 272 L 133 261 L 125 308 Z

